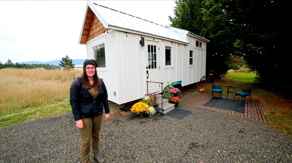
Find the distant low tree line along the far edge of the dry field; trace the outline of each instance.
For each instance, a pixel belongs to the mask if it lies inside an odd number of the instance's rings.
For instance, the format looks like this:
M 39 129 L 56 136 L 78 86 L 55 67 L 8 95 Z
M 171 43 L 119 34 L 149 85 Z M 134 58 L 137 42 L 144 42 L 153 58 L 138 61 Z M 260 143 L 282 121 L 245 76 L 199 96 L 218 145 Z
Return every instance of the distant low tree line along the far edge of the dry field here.
M 4 69 L 4 68 L 19 68 L 19 69 L 36 69 L 37 67 L 44 67 L 45 69 L 58 69 L 61 68 L 60 66 L 56 66 L 56 65 L 49 65 L 49 64 L 19 64 L 18 62 L 16 62 L 15 64 L 8 59 L 4 64 L 0 61 L 0 69 Z

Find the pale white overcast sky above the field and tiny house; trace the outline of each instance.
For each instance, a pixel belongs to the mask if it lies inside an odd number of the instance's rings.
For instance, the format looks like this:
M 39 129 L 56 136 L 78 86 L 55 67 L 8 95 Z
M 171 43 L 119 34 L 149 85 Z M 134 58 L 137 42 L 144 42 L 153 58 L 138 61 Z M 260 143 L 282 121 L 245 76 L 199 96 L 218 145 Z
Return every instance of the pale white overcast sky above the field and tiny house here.
M 174 0 L 92 1 L 160 25 L 169 25 Z M 0 61 L 86 59 L 78 44 L 86 1 L 0 1 Z

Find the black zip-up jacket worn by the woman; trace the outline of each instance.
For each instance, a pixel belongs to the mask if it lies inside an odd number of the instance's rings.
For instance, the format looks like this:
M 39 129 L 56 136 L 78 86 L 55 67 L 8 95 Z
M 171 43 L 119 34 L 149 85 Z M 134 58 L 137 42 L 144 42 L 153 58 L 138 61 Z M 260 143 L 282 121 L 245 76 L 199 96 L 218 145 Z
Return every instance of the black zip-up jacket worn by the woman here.
M 102 81 L 102 79 L 100 79 Z M 109 113 L 109 103 L 107 100 L 107 89 L 105 83 L 98 87 L 99 94 L 93 99 L 91 93 L 85 89 L 82 77 L 76 78 L 70 87 L 70 105 L 75 121 L 82 118 L 96 117 L 103 113 Z

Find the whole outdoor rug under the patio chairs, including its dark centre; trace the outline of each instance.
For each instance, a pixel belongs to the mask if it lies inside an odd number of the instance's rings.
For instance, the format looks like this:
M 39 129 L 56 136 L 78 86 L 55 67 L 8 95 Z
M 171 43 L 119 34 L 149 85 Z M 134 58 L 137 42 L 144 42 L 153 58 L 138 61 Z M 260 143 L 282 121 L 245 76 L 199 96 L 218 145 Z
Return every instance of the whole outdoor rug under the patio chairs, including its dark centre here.
M 213 96 L 211 98 L 211 94 L 207 94 L 190 103 L 189 106 L 267 124 L 263 110 L 260 107 L 260 102 L 254 99 L 250 101 L 247 98 L 246 101 L 241 102 L 241 98 L 236 98 L 234 102 L 234 98 L 232 97 L 226 99 L 224 96 L 222 98 Z

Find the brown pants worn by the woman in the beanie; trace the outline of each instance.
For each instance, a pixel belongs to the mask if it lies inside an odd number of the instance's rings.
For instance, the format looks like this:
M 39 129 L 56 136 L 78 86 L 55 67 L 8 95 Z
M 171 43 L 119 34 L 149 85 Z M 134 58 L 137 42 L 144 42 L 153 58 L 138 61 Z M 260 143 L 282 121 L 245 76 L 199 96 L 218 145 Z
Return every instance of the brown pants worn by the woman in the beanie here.
M 81 162 L 90 163 L 90 141 L 93 155 L 97 155 L 99 153 L 99 131 L 102 121 L 102 114 L 97 117 L 82 118 L 82 121 L 84 128 L 79 128 L 81 135 Z

